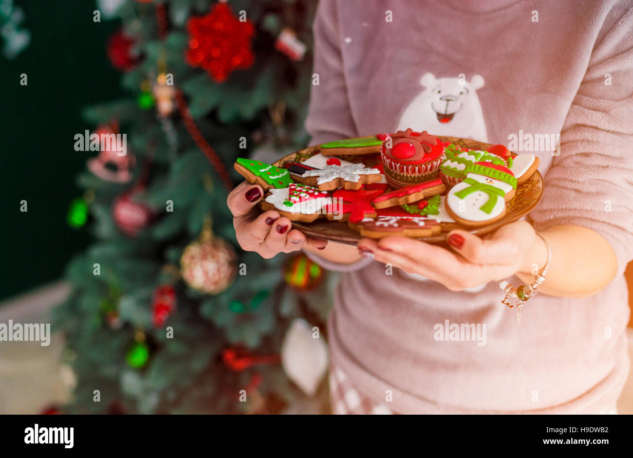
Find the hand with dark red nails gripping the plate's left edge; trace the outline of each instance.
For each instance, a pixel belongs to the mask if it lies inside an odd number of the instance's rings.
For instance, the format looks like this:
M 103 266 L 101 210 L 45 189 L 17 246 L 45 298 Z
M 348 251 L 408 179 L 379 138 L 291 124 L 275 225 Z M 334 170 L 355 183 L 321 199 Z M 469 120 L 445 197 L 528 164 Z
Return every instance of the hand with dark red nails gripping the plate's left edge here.
M 241 183 L 232 190 L 227 205 L 233 213 L 233 225 L 237 242 L 245 251 L 254 251 L 261 257 L 270 259 L 277 253 L 298 251 L 305 246 L 324 249 L 327 240 L 306 237 L 292 223 L 274 210 L 260 214 L 255 204 L 263 197 L 258 185 Z

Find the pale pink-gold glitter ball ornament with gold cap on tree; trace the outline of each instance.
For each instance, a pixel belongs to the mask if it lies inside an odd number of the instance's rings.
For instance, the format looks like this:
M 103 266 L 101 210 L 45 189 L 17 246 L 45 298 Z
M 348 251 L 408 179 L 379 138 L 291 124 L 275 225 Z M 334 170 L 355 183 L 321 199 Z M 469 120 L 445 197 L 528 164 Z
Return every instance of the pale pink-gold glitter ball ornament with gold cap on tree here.
M 210 221 L 204 226 L 199 240 L 189 244 L 182 253 L 180 274 L 194 290 L 218 294 L 233 282 L 237 256 L 230 244 L 213 236 Z

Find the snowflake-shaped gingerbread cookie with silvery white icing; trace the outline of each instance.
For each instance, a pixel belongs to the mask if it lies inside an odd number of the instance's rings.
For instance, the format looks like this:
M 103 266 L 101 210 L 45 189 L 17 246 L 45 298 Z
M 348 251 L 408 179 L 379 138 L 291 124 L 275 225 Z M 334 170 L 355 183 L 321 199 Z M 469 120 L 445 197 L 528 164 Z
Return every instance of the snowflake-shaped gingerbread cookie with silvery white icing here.
M 382 175 L 378 169 L 367 168 L 363 164 L 352 164 L 326 165 L 318 170 L 308 170 L 302 178 L 306 185 L 331 191 L 337 188 L 360 189 L 364 184 L 379 182 Z

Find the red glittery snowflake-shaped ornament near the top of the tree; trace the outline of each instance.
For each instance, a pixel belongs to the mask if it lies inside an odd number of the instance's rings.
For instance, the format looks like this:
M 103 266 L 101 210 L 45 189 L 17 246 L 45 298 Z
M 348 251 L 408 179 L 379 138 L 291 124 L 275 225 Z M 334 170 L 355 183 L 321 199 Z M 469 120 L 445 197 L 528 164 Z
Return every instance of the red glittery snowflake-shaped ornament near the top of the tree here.
M 238 68 L 253 65 L 253 23 L 240 22 L 227 4 L 216 3 L 208 15 L 189 19 L 187 30 L 189 49 L 185 60 L 204 68 L 216 83 L 226 81 Z

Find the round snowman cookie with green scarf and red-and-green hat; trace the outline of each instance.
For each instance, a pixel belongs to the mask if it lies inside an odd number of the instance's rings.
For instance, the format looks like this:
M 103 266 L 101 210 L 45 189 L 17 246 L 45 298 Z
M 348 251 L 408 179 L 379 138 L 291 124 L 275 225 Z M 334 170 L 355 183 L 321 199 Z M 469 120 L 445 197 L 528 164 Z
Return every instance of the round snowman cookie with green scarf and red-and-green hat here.
M 446 195 L 446 211 L 464 226 L 483 226 L 503 218 L 506 202 L 517 189 L 517 178 L 499 164 L 478 162 Z

